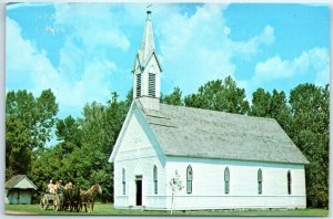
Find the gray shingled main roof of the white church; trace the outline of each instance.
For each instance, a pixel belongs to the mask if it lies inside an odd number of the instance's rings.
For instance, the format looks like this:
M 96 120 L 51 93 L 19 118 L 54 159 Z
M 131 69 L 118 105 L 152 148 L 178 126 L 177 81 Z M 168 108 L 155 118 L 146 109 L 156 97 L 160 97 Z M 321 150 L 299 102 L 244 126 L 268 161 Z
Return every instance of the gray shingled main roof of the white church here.
M 165 155 L 309 164 L 273 118 L 167 104 L 160 111 L 138 106 Z

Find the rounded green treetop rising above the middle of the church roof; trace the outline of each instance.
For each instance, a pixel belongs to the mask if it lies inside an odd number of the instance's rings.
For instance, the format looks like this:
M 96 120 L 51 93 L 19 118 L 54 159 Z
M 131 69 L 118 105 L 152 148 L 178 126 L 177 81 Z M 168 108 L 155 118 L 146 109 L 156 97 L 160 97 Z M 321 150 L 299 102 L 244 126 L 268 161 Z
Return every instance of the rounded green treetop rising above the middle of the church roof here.
M 185 96 L 184 103 L 190 107 L 238 114 L 246 114 L 250 108 L 245 90 L 238 87 L 231 76 L 205 83 L 196 94 Z

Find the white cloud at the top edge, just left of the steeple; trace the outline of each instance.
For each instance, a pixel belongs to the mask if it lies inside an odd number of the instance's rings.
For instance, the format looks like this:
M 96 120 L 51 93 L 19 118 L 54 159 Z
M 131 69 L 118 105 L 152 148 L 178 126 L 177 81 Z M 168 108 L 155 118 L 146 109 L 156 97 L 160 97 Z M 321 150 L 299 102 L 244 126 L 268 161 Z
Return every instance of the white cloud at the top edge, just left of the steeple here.
M 129 49 L 130 41 L 119 27 L 120 14 L 109 4 L 68 3 L 54 8 L 54 25 L 67 34 L 72 30 L 71 38 L 80 39 L 84 46 Z

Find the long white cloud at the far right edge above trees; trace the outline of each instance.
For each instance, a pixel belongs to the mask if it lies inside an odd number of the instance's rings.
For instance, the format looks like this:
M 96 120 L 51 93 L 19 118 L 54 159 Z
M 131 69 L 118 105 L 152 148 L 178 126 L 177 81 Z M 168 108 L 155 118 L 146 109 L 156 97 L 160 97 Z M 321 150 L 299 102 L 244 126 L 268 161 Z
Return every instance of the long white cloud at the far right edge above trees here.
M 315 74 L 317 84 L 329 82 L 330 54 L 327 49 L 313 48 L 303 51 L 300 56 L 293 60 L 282 60 L 279 55 L 270 58 L 256 64 L 253 81 L 268 82 L 304 74 Z

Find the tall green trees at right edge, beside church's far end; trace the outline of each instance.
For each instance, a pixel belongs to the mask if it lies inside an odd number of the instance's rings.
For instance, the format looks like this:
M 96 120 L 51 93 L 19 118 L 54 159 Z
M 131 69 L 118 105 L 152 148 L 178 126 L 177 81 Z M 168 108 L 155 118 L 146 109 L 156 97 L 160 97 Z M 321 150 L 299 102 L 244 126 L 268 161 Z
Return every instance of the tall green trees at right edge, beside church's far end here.
M 291 91 L 293 142 L 310 161 L 306 166 L 307 204 L 329 205 L 329 85 L 301 84 Z

